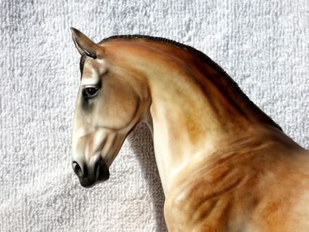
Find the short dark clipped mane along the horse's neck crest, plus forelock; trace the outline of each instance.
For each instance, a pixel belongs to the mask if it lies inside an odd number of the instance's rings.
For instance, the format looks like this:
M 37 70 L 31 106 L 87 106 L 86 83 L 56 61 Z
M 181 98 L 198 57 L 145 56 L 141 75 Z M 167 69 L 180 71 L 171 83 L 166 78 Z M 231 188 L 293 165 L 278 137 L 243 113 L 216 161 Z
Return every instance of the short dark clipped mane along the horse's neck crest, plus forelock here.
M 167 45 L 172 45 L 172 46 L 177 47 L 179 49 L 184 49 L 184 50 L 194 54 L 195 56 L 198 56 L 198 58 L 201 58 L 201 60 L 209 63 L 212 67 L 214 67 L 214 69 L 216 69 L 216 71 L 218 71 L 218 73 L 220 73 L 222 76 L 225 76 L 225 78 L 229 82 L 229 84 L 231 84 L 238 91 L 238 93 L 240 93 L 241 97 L 243 97 L 243 99 L 245 101 L 247 101 L 251 106 L 255 106 L 255 108 L 257 108 L 257 110 L 260 111 L 260 113 L 262 113 L 262 115 L 264 115 L 264 118 L 266 119 L 266 122 L 268 124 L 271 124 L 271 126 L 275 126 L 279 130 L 282 130 L 282 128 L 278 124 L 276 124 L 275 121 L 273 121 L 273 119 L 271 119 L 271 117 L 266 115 L 266 113 L 264 113 L 264 111 L 262 111 L 258 106 L 256 106 L 249 99 L 249 97 L 242 91 L 242 89 L 240 89 L 240 86 L 238 86 L 238 84 L 225 72 L 224 69 L 222 69 L 222 67 L 220 67 L 216 62 L 214 62 L 214 60 L 211 60 L 211 58 L 209 58 L 209 56 L 204 54 L 202 51 L 199 51 L 198 49 L 195 49 L 194 47 L 191 47 L 189 45 L 184 45 L 183 43 L 179 43 L 179 42 L 176 42 L 174 40 L 170 40 L 168 38 L 146 36 L 146 35 L 140 35 L 140 34 L 110 36 L 108 38 L 104 38 L 98 44 L 102 45 L 103 43 L 106 43 L 106 42 L 108 42 L 110 40 L 114 40 L 114 39 L 124 39 L 124 40 L 144 39 L 144 40 L 148 40 L 148 41 L 155 42 L 155 43 L 163 43 L 163 44 L 167 44 Z M 82 69 L 83 69 L 83 66 L 84 66 L 84 61 L 86 60 L 86 58 L 87 58 L 87 54 L 83 54 L 82 58 L 80 59 L 80 70 L 81 70 L 81 72 L 82 72 Z

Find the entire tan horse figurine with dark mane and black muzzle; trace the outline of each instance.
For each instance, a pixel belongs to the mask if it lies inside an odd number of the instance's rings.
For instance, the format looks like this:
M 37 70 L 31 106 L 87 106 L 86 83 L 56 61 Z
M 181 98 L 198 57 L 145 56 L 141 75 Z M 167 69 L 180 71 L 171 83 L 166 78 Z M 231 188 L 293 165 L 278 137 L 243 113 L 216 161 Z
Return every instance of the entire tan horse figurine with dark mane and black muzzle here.
M 94 43 L 71 28 L 82 73 L 73 170 L 91 187 L 148 124 L 169 231 L 309 231 L 309 151 L 201 51 L 165 38 Z

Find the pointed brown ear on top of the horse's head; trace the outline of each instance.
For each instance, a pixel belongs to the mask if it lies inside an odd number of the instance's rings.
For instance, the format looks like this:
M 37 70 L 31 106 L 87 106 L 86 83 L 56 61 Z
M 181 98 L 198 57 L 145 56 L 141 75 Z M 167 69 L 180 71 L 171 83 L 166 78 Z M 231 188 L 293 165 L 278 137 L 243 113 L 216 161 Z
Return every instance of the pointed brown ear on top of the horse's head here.
M 82 34 L 79 30 L 71 27 L 72 38 L 78 49 L 78 52 L 82 55 L 86 53 L 87 56 L 97 58 L 100 46 L 93 42 L 90 38 Z

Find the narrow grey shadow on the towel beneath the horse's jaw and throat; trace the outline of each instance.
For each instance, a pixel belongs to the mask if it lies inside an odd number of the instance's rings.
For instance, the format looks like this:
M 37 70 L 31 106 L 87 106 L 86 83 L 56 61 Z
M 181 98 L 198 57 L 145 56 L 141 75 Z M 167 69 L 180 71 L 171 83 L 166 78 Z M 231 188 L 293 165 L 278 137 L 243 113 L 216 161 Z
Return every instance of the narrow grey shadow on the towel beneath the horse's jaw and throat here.
M 152 196 L 150 200 L 155 208 L 157 231 L 168 231 L 163 216 L 165 198 L 155 160 L 152 135 L 148 126 L 144 123 L 137 124 L 133 132 L 128 136 L 128 141 L 137 156 L 144 178 L 149 185 Z

